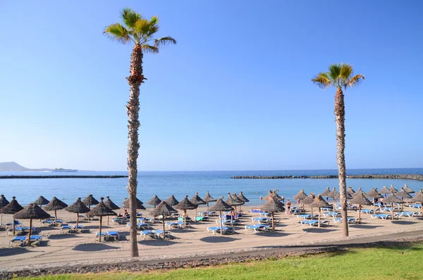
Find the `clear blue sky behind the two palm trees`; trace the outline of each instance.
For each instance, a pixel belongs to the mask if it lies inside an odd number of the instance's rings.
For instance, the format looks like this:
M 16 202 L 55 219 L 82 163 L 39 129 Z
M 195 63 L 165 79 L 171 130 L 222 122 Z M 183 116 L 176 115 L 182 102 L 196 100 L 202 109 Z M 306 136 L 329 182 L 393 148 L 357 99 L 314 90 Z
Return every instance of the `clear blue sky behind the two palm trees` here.
M 130 46 L 118 11 L 159 16 L 176 46 L 145 55 L 140 170 L 335 169 L 347 62 L 347 168 L 422 167 L 421 1 L 1 1 L 0 162 L 126 169 Z

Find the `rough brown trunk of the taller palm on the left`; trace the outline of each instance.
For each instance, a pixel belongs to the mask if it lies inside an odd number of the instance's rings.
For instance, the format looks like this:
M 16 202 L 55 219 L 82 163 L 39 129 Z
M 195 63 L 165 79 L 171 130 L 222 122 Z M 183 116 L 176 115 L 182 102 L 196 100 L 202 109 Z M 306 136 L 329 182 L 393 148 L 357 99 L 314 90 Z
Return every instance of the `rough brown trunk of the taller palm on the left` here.
M 142 49 L 135 44 L 130 56 L 130 75 L 126 78 L 130 86 L 128 111 L 128 195 L 130 205 L 130 255 L 138 257 L 137 246 L 137 159 L 140 143 L 138 128 L 140 127 L 140 85 L 145 80 L 142 75 Z

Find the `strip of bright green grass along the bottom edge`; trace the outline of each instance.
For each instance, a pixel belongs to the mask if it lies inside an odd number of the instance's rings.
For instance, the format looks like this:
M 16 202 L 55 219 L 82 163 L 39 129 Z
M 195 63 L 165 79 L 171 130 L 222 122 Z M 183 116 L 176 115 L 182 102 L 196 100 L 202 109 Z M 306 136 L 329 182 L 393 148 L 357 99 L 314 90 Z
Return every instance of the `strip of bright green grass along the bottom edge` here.
M 150 273 L 65 274 L 43 280 L 116 279 L 423 279 L 423 244 L 396 248 L 353 249 L 306 257 L 287 257 L 219 267 Z

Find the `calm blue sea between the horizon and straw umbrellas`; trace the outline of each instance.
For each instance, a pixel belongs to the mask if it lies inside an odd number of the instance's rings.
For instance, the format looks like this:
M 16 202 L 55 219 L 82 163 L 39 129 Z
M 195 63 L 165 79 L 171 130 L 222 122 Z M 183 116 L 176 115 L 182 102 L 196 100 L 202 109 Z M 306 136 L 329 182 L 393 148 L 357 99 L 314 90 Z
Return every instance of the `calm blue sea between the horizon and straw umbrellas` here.
M 78 173 L 54 172 L 54 175 L 126 175 L 122 171 L 78 171 Z M 195 192 L 204 197 L 207 190 L 214 198 L 227 196 L 229 193 L 243 191 L 250 202 L 248 205 L 261 204 L 259 197 L 265 196 L 268 190 L 278 189 L 279 195 L 290 199 L 300 190 L 309 193 L 321 193 L 325 188 L 337 188 L 338 179 L 231 179 L 231 176 L 276 176 L 276 175 L 337 175 L 336 170 L 295 170 L 295 171 L 178 171 L 178 172 L 140 172 L 138 174 L 137 197 L 147 202 L 154 195 L 162 200 L 170 195 L 182 200 L 185 195 L 192 197 Z M 420 174 L 423 169 L 350 169 L 348 175 L 354 174 Z M 0 172 L 0 175 L 52 175 L 51 172 Z M 121 205 L 128 197 L 126 184 L 128 178 L 52 178 L 52 179 L 0 179 L 0 194 L 8 200 L 16 196 L 21 205 L 43 195 L 48 200 L 56 196 L 71 204 L 78 197 L 89 194 L 99 197 L 110 196 L 117 205 Z M 364 191 L 371 188 L 381 189 L 384 185 L 393 184 L 400 189 L 407 184 L 413 190 L 423 188 L 423 181 L 391 180 L 391 179 L 347 179 L 347 185 L 355 190 Z M 146 205 L 147 206 L 147 205 Z

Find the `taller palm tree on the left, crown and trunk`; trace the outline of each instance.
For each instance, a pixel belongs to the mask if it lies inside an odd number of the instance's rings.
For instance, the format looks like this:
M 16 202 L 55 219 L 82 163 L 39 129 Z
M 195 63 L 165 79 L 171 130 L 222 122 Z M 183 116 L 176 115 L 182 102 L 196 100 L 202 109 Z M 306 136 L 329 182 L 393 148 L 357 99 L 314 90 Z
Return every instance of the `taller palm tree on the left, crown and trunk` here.
M 137 158 L 140 143 L 138 142 L 138 120 L 140 112 L 140 85 L 147 80 L 142 74 L 142 58 L 144 54 L 157 54 L 159 48 L 166 44 L 176 44 L 172 37 L 154 39 L 159 31 L 159 19 L 153 16 L 150 20 L 143 18 L 130 8 L 121 11 L 123 24 L 114 23 L 106 27 L 104 35 L 121 44 L 135 44 L 130 56 L 130 75 L 128 80 L 130 93 L 126 105 L 128 113 L 128 194 L 130 207 L 130 242 L 131 256 L 138 256 L 137 248 Z

